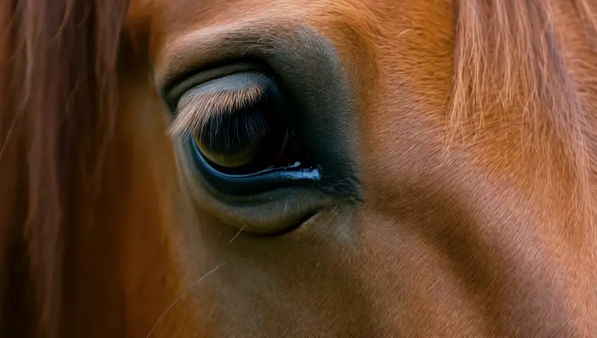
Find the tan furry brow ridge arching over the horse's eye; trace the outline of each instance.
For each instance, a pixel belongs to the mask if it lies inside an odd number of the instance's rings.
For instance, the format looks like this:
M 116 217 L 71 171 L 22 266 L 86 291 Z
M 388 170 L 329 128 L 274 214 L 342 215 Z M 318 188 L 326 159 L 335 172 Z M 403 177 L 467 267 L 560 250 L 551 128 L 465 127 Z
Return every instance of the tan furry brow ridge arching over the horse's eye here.
M 170 43 L 164 44 L 153 59 L 154 83 L 160 92 L 169 92 L 172 84 L 209 66 L 247 59 L 264 64 L 268 59 L 280 57 L 297 63 L 303 55 L 299 55 L 302 52 L 296 54 L 296 46 L 310 46 L 304 51 L 327 48 L 312 27 L 288 18 L 269 18 L 267 21 L 250 18 L 203 27 L 165 40 Z

